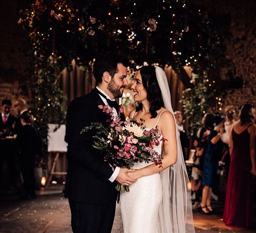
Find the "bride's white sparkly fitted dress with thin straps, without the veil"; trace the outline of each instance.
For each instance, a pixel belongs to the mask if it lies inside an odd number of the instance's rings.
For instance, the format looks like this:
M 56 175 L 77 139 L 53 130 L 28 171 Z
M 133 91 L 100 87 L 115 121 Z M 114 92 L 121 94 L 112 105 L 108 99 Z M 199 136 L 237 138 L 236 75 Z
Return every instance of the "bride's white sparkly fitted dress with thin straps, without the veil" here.
M 165 111 L 162 111 L 158 116 L 156 125 L 161 114 Z M 160 135 L 161 138 L 162 135 Z M 153 145 L 153 149 L 161 154 L 162 141 L 158 146 Z M 132 166 L 132 169 L 140 169 L 152 163 L 138 162 Z M 139 178 L 135 183 L 129 185 L 129 188 L 129 192 L 120 194 L 124 233 L 157 233 L 158 209 L 162 201 L 162 184 L 159 172 Z

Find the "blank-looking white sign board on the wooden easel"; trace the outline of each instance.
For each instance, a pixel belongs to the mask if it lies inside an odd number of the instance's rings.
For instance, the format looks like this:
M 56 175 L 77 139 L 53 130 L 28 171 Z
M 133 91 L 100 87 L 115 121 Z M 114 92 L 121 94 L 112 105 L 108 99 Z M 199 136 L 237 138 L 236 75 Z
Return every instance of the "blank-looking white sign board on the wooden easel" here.
M 48 124 L 48 152 L 50 151 L 63 151 L 67 152 L 67 142 L 65 142 L 64 137 L 66 134 L 66 125 L 61 124 L 60 127 L 55 131 L 54 129 L 58 124 Z

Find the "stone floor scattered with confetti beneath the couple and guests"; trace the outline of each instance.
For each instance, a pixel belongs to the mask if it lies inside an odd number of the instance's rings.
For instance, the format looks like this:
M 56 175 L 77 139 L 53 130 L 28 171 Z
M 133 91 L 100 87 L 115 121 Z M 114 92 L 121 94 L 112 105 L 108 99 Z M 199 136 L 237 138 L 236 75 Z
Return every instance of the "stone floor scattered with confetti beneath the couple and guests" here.
M 222 222 L 222 212 L 204 215 L 194 212 L 196 232 L 251 233 L 255 229 L 230 228 Z M 17 196 L 0 196 L 1 233 L 71 233 L 70 209 L 61 190 L 38 192 L 38 198 L 19 201 Z M 122 233 L 119 205 L 116 208 L 112 233 Z M 140 233 L 140 232 L 138 232 Z

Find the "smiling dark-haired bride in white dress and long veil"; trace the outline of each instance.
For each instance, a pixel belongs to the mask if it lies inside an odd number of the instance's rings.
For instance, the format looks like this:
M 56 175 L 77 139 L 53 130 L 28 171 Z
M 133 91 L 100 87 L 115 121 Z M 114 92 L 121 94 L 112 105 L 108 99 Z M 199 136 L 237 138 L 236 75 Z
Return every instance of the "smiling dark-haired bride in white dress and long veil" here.
M 162 153 L 162 167 L 136 163 L 136 171 L 128 173 L 137 182 L 120 194 L 124 233 L 193 233 L 189 179 L 166 74 L 158 66 L 143 66 L 131 88 L 138 107 L 129 117 L 143 118 L 146 128 L 157 127 L 167 141 L 153 146 Z

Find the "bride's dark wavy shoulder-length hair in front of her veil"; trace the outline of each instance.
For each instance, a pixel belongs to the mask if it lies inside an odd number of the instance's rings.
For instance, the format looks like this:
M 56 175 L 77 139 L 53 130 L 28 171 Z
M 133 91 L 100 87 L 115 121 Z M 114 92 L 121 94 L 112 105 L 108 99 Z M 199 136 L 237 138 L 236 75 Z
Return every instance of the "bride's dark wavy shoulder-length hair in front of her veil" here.
M 147 100 L 150 103 L 149 112 L 151 118 L 157 116 L 157 110 L 164 107 L 161 89 L 156 78 L 156 68 L 153 66 L 143 66 L 139 69 L 143 87 L 147 91 Z M 142 110 L 141 102 L 136 102 L 136 112 Z

